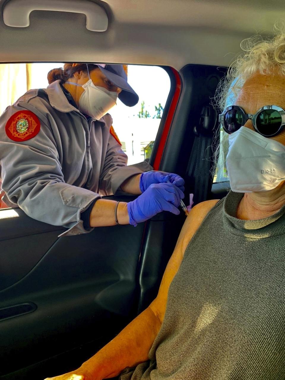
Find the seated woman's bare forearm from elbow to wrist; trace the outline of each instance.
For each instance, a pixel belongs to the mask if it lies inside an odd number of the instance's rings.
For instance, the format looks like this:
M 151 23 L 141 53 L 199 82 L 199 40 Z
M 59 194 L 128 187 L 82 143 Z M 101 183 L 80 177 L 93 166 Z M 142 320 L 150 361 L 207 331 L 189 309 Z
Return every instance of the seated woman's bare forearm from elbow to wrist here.
M 92 379 L 101 380 L 119 375 L 125 367 L 146 361 L 160 326 L 160 319 L 148 307 L 96 355 L 83 363 L 82 368 L 91 374 Z

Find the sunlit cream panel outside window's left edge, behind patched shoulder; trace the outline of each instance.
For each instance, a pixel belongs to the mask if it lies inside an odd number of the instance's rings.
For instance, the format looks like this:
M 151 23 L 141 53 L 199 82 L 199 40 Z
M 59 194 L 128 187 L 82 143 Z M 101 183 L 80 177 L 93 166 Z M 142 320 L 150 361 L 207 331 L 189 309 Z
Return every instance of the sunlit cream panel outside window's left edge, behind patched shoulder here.
M 0 114 L 30 89 L 32 63 L 0 64 Z

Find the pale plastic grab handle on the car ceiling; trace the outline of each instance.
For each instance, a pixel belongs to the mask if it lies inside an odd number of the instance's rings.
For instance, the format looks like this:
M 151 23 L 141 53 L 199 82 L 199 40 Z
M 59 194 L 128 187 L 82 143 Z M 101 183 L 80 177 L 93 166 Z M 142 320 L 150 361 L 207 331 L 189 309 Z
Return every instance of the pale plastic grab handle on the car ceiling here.
M 88 30 L 105 32 L 108 28 L 105 9 L 88 0 L 9 0 L 3 9 L 4 23 L 11 27 L 25 28 L 30 25 L 32 11 L 83 13 L 86 15 Z

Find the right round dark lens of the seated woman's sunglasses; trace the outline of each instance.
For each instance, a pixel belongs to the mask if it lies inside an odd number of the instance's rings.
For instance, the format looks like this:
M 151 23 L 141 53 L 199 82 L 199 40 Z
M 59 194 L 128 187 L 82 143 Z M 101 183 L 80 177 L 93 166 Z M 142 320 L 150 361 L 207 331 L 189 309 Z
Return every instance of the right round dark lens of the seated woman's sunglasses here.
M 282 117 L 274 109 L 265 109 L 256 117 L 256 128 L 263 136 L 272 136 L 279 131 Z

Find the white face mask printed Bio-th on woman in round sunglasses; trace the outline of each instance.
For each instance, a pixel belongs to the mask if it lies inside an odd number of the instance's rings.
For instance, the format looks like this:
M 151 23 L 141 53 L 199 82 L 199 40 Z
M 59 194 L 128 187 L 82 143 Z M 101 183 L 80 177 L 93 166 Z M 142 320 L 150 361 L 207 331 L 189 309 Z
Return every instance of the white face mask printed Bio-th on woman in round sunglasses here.
M 226 167 L 231 190 L 237 193 L 268 191 L 285 180 L 285 146 L 241 127 L 229 136 Z

